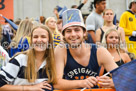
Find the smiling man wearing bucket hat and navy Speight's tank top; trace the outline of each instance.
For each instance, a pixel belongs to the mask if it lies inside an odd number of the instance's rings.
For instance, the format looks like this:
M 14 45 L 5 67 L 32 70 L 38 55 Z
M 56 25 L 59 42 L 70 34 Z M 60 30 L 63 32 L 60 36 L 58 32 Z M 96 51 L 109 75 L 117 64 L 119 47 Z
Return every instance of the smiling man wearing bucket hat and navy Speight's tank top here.
M 65 43 L 55 48 L 57 84 L 54 88 L 93 88 L 99 83 L 96 76 L 100 66 L 111 71 L 117 65 L 107 49 L 84 42 L 86 28 L 80 10 L 66 10 L 62 17 Z

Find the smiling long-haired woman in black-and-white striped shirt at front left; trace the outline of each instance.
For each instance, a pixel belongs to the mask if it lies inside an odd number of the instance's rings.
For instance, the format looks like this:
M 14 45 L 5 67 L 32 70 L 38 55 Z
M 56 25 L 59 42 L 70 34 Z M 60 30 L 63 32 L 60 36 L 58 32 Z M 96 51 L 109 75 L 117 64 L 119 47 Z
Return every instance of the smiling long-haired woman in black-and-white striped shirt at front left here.
M 0 91 L 53 91 L 55 83 L 52 34 L 46 26 L 37 26 L 32 29 L 31 49 L 16 54 L 2 68 Z

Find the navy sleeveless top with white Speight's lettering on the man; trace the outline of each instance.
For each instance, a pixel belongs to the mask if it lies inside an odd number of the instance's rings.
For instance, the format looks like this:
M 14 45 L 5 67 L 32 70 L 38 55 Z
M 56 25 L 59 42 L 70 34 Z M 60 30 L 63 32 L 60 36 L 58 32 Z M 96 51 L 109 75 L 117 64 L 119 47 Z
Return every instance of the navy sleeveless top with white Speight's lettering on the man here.
M 71 55 L 67 48 L 67 62 L 64 68 L 64 77 L 68 80 L 86 79 L 89 76 L 98 76 L 99 65 L 97 62 L 96 45 L 91 46 L 91 54 L 88 66 L 82 66 Z

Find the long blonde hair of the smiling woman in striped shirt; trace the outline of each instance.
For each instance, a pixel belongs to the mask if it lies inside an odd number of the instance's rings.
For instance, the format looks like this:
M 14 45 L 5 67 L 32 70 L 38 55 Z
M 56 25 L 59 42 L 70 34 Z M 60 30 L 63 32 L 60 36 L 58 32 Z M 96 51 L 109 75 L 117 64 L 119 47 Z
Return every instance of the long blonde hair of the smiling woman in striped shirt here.
M 47 26 L 44 25 L 36 26 L 35 28 L 32 29 L 31 46 L 33 40 L 33 31 L 37 28 L 42 28 L 45 31 L 47 31 L 49 34 L 50 46 L 45 51 L 44 59 L 46 59 L 46 66 L 44 67 L 43 72 L 44 70 L 46 71 L 46 74 L 48 76 L 48 82 L 55 84 L 57 80 L 56 80 L 56 71 L 55 71 L 55 59 L 54 59 L 52 34 Z M 28 80 L 28 82 L 35 82 L 35 80 L 38 77 L 36 71 L 36 62 L 35 62 L 35 50 L 33 48 L 30 48 L 29 50 L 21 53 L 26 54 L 28 56 L 27 67 L 25 69 L 25 78 Z M 20 53 L 17 53 L 16 55 L 18 54 Z

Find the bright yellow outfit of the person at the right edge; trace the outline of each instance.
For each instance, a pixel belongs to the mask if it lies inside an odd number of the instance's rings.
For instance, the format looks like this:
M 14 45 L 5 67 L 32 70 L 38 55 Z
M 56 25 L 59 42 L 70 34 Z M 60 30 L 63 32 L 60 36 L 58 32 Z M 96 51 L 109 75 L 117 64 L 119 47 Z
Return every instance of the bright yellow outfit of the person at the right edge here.
M 130 41 L 129 37 L 132 32 L 136 31 L 136 16 L 130 10 L 125 11 L 120 17 L 120 27 L 125 31 L 125 40 L 127 43 L 128 51 L 136 55 L 136 41 Z M 131 46 L 131 44 L 133 46 Z

